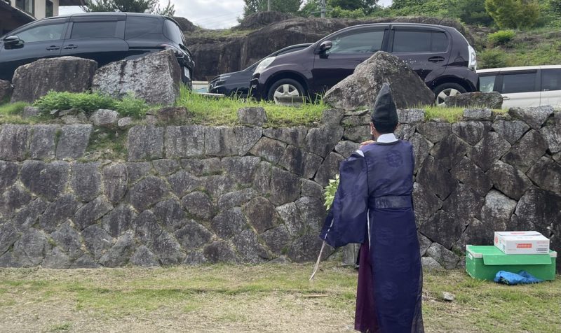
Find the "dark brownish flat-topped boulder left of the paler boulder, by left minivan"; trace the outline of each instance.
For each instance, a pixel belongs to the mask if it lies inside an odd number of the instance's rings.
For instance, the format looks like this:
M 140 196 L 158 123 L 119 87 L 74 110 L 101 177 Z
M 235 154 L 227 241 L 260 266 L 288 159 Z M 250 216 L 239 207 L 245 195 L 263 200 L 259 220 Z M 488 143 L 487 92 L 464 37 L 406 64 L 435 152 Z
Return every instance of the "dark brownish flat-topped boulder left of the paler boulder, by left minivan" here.
M 97 62 L 76 57 L 39 59 L 18 67 L 13 75 L 12 102 L 32 103 L 50 90 L 85 92 L 92 85 Z

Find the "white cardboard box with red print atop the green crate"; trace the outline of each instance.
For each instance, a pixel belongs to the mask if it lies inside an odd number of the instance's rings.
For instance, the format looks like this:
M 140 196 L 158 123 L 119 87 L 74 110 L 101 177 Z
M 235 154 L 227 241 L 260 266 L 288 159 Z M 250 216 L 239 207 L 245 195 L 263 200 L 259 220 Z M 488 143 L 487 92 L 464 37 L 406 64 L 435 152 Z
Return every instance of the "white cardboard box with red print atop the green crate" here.
M 494 245 L 507 255 L 549 253 L 549 239 L 539 232 L 495 232 Z

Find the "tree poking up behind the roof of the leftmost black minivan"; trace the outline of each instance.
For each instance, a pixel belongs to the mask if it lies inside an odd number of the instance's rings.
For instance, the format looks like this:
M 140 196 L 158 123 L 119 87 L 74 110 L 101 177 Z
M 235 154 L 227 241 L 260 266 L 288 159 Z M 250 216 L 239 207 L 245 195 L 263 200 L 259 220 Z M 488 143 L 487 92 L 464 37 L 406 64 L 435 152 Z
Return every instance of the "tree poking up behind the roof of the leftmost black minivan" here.
M 175 15 L 175 6 L 170 3 L 161 9 L 158 0 L 86 0 L 80 6 L 85 12 L 130 12 L 153 13 L 158 15 Z

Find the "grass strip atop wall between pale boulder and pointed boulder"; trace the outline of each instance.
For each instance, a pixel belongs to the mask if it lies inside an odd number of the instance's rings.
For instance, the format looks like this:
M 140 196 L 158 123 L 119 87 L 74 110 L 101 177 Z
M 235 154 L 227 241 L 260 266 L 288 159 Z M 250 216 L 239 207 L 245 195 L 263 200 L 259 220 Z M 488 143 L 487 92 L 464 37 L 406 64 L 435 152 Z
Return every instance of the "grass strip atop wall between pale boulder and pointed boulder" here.
M 210 98 L 196 94 L 182 87 L 177 106 L 189 110 L 191 122 L 199 125 L 236 125 L 238 109 L 262 107 L 267 115 L 265 127 L 313 125 L 319 122 L 327 108 L 323 101 L 308 102 L 300 106 L 280 106 L 266 101 L 252 101 L 238 98 Z

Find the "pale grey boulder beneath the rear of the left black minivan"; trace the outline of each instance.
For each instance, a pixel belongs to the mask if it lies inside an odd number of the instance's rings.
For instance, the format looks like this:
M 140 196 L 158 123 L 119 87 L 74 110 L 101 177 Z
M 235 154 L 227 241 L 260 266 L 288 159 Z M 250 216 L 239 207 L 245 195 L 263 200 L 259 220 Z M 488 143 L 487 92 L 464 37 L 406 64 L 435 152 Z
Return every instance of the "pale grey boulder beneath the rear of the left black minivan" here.
M 180 83 L 180 65 L 173 51 L 165 50 L 101 67 L 92 89 L 117 98 L 134 94 L 149 104 L 171 105 L 179 96 Z

